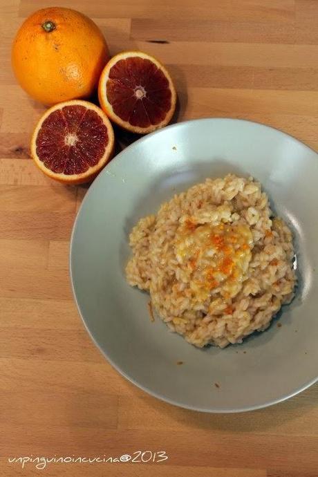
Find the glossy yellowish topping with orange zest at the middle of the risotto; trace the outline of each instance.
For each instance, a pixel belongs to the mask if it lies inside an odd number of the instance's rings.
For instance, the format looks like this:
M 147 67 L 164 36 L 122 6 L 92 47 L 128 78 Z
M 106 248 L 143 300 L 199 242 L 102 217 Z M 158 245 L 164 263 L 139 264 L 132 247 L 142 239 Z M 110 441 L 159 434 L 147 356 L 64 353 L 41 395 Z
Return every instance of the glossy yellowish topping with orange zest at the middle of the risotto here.
M 252 232 L 247 225 L 180 225 L 175 251 L 178 262 L 191 270 L 191 290 L 205 299 L 212 290 L 225 298 L 241 290 L 252 257 Z

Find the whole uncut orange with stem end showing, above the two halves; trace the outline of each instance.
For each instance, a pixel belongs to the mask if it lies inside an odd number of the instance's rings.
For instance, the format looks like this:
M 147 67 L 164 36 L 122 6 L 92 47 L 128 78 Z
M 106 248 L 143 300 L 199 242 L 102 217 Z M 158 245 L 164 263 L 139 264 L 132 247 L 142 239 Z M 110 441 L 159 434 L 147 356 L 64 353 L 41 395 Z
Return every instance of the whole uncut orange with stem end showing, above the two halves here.
M 33 13 L 12 45 L 12 68 L 19 83 L 31 97 L 48 105 L 91 96 L 108 60 L 100 29 L 70 8 Z

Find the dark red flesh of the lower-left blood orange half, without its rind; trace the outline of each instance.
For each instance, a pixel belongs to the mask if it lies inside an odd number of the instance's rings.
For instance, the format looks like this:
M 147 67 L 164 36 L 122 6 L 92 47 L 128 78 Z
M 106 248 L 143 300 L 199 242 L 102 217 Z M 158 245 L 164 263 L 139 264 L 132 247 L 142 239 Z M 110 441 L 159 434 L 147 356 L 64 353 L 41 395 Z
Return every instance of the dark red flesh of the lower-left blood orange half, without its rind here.
M 102 159 L 107 128 L 95 111 L 75 104 L 53 111 L 37 134 L 36 153 L 55 174 L 83 174 Z

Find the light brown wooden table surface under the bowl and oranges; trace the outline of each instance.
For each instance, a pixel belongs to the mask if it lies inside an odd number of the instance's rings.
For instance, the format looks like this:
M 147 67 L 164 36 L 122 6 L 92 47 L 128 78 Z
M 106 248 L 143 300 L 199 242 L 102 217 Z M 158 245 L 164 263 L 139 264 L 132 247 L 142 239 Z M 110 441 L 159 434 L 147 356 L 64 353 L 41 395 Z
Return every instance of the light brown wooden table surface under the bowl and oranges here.
M 318 149 L 317 0 L 0 1 L 0 475 L 317 477 L 318 386 L 250 413 L 178 409 L 118 375 L 84 330 L 68 243 L 86 187 L 57 185 L 32 164 L 44 106 L 10 69 L 19 24 L 52 3 L 92 17 L 112 54 L 140 48 L 167 64 L 179 121 L 247 118 Z M 45 470 L 8 462 L 138 450 L 169 458 Z

